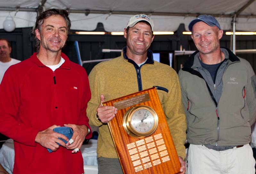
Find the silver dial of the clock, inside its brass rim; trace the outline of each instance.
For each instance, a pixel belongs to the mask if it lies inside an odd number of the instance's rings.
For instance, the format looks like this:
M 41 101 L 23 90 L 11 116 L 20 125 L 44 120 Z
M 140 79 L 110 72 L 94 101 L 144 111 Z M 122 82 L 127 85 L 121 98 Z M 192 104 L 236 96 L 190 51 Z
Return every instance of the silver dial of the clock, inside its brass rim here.
M 148 109 L 138 109 L 132 114 L 131 126 L 138 132 L 145 133 L 152 129 L 154 116 Z

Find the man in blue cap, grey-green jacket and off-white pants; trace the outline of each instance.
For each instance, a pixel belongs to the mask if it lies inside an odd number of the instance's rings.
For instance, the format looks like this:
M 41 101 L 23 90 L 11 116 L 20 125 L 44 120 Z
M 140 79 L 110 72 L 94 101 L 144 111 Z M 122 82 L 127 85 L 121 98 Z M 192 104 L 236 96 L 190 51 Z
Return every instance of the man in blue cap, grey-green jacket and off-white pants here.
M 249 146 L 256 116 L 256 77 L 249 62 L 220 47 L 218 21 L 189 23 L 196 48 L 179 72 L 190 143 L 188 174 L 254 174 Z

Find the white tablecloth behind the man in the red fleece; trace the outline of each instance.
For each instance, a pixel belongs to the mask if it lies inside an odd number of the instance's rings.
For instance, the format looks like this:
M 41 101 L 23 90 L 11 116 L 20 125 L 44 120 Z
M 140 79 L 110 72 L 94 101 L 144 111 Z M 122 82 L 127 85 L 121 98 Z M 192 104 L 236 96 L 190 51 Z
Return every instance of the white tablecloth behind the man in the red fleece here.
M 91 139 L 88 144 L 82 145 L 80 150 L 84 158 L 84 165 L 98 165 L 96 153 L 97 140 Z M 0 163 L 9 173 L 12 172 L 14 164 L 14 145 L 12 139 L 5 141 L 0 149 Z

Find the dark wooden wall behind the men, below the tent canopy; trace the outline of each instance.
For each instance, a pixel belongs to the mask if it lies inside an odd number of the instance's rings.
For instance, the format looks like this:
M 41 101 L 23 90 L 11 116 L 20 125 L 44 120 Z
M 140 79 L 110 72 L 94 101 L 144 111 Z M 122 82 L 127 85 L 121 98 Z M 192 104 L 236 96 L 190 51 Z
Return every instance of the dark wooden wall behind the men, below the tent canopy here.
M 102 27 L 102 26 L 101 26 Z M 36 51 L 34 36 L 31 34 L 32 28 L 17 28 L 14 32 L 8 33 L 0 30 L 0 38 L 6 38 L 11 42 L 11 57 L 24 60 L 30 57 Z M 97 29 L 96 29 L 97 30 Z M 185 31 L 184 24 L 181 24 L 173 35 L 156 35 L 150 49 L 154 51 L 180 50 L 180 45 L 186 50 L 196 50 L 195 44 L 189 35 L 183 35 Z M 68 35 L 66 46 L 62 52 L 67 54 L 71 61 L 78 63 L 74 42 L 79 43 L 80 55 L 83 61 L 96 59 L 109 59 L 120 55 L 120 53 L 102 53 L 102 49 L 122 49 L 126 45 L 123 36 L 112 35 L 78 35 L 71 31 Z M 225 32 L 224 32 L 225 33 Z M 220 40 L 221 47 L 230 47 L 230 35 L 223 35 Z M 236 49 L 256 49 L 256 35 L 236 36 Z M 253 69 L 256 69 L 256 54 L 237 54 L 248 60 Z M 180 64 L 188 59 L 188 55 L 176 56 L 175 67 L 178 72 Z M 87 74 L 98 62 L 86 63 L 83 67 Z

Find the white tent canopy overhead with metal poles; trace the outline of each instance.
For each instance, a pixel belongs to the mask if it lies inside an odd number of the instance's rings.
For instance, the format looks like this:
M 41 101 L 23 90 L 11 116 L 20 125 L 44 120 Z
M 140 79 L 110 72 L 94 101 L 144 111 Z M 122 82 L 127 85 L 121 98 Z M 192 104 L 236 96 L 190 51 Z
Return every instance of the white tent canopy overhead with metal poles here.
M 8 15 L 13 17 L 16 28 L 31 27 L 38 9 L 51 8 L 68 10 L 74 30 L 92 31 L 101 22 L 108 32 L 123 31 L 129 18 L 140 13 L 153 18 L 154 31 L 176 31 L 180 23 L 188 30 L 188 23 L 199 14 L 215 16 L 223 30 L 232 30 L 235 14 L 236 30 L 256 28 L 255 0 L 1 0 L 0 29 Z

